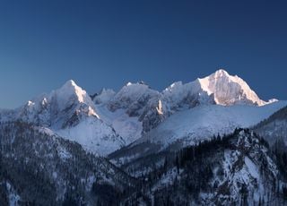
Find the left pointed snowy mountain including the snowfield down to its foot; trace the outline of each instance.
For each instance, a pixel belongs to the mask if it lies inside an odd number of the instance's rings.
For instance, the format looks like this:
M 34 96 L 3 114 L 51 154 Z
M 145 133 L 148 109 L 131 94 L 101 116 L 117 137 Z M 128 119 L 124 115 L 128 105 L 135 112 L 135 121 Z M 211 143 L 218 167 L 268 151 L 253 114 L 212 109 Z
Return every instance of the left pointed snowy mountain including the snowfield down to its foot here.
M 125 145 L 115 130 L 100 119 L 89 94 L 74 81 L 65 82 L 60 89 L 32 99 L 23 107 L 4 111 L 0 119 L 48 127 L 99 155 Z

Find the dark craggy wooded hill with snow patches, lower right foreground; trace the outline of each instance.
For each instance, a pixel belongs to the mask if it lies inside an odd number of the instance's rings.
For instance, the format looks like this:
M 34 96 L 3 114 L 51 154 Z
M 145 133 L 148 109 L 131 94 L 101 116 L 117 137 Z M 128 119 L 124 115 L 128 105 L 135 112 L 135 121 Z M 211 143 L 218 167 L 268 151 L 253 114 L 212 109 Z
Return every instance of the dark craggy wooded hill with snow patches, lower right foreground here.
M 143 175 L 142 194 L 154 205 L 285 205 L 286 180 L 266 145 L 239 129 L 167 155 Z

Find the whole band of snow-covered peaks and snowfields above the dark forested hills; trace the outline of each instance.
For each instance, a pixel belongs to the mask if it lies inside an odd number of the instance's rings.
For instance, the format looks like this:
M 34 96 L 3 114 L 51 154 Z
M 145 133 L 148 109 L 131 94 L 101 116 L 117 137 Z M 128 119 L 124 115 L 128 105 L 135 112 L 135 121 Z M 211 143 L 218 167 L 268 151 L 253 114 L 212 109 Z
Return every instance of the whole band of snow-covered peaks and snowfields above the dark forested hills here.
M 265 107 L 269 103 L 274 109 Z M 259 99 L 238 76 L 218 70 L 194 82 L 174 82 L 162 91 L 152 90 L 144 82 L 128 82 L 118 92 L 103 89 L 90 96 L 74 81 L 68 81 L 60 89 L 40 95 L 22 107 L 1 111 L 0 121 L 21 120 L 45 126 L 81 143 L 87 150 L 107 155 L 142 140 L 142 136 L 151 136 L 152 142 L 164 144 L 185 138 L 188 144 L 194 138 L 229 133 L 235 127 L 251 125 L 245 124 L 248 117 L 245 122 L 238 117 L 250 108 L 265 114 L 254 113 L 257 121 L 252 124 L 257 124 L 285 104 L 271 103 L 274 101 Z

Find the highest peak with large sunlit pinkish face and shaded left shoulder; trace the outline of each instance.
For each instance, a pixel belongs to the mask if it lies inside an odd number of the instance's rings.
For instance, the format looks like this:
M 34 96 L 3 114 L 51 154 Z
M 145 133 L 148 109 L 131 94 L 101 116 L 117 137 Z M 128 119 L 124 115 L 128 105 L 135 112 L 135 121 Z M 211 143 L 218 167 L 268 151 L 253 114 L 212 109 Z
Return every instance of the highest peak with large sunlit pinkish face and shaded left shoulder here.
M 232 76 L 220 69 L 204 78 L 183 84 L 175 82 L 162 91 L 163 98 L 170 102 L 170 107 L 198 104 L 257 105 L 264 106 L 275 100 L 265 102 L 259 99 L 247 82 L 237 75 Z

